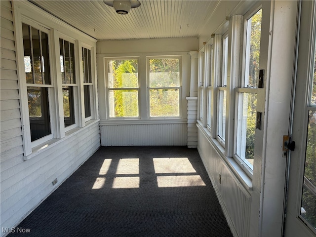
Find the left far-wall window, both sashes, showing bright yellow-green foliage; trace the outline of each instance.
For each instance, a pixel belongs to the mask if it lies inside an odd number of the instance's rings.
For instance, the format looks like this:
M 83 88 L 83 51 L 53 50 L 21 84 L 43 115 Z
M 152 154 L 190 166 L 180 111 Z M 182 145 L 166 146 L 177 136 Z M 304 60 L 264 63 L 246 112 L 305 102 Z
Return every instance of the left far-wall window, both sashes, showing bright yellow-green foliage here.
M 138 59 L 107 60 L 110 118 L 139 117 Z

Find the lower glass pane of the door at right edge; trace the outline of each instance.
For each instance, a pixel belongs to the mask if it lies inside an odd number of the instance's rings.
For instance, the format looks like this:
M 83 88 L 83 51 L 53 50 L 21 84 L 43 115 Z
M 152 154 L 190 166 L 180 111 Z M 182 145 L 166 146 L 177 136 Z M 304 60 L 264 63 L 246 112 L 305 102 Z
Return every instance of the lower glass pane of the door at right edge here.
M 301 215 L 316 228 L 316 111 L 310 111 Z

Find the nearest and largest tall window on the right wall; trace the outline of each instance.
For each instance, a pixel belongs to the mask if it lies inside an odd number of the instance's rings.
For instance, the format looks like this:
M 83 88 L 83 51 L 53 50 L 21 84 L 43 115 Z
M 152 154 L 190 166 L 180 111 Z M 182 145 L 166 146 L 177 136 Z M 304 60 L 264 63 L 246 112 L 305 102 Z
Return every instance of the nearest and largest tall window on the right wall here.
M 245 20 L 244 70 L 236 88 L 237 133 L 235 157 L 252 173 L 255 148 L 262 9 Z

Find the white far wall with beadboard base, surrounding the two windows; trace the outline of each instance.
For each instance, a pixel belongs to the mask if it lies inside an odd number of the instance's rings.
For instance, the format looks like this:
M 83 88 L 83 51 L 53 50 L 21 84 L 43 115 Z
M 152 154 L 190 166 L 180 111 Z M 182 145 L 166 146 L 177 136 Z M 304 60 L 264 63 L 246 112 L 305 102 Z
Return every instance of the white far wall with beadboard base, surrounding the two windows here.
M 98 94 L 103 146 L 133 145 L 187 145 L 187 100 L 190 94 L 191 55 L 197 51 L 197 38 L 115 40 L 98 41 L 97 68 Z M 146 84 L 146 56 L 180 55 L 182 57 L 182 98 L 180 118 L 148 118 L 147 103 L 141 102 L 139 119 L 109 119 L 107 116 L 107 94 L 105 83 L 105 57 L 139 57 L 139 79 Z M 142 82 L 141 82 L 142 83 Z M 140 98 L 146 100 L 146 88 L 140 89 Z M 122 122 L 123 121 L 123 122 Z M 173 136 L 170 139 L 170 131 Z M 110 134 L 111 133 L 111 134 Z M 124 134 L 119 137 L 114 134 Z M 150 139 L 149 139 L 150 136 Z M 117 137 L 117 138 L 116 138 Z M 130 138 L 133 138 L 130 140 Z

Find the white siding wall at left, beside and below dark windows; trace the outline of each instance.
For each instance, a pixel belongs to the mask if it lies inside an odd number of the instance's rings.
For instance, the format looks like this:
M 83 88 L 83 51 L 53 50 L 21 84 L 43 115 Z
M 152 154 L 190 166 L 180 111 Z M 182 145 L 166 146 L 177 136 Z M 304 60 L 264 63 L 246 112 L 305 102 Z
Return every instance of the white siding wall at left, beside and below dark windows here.
M 0 227 L 10 229 L 100 147 L 100 129 L 97 119 L 90 120 L 84 127 L 66 133 L 64 138 L 50 141 L 46 148 L 32 154 L 29 160 L 23 159 L 22 103 L 14 32 L 14 24 L 21 22 L 13 23 L 10 1 L 1 0 L 0 4 Z M 41 19 L 41 22 L 47 20 Z M 48 21 L 52 22 L 52 18 L 48 17 Z M 58 28 L 58 24 L 55 27 Z M 24 70 L 20 73 L 24 73 Z M 53 186 L 55 178 L 58 182 Z M 5 233 L 1 232 L 3 235 Z

